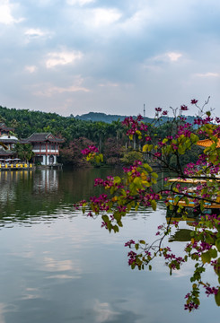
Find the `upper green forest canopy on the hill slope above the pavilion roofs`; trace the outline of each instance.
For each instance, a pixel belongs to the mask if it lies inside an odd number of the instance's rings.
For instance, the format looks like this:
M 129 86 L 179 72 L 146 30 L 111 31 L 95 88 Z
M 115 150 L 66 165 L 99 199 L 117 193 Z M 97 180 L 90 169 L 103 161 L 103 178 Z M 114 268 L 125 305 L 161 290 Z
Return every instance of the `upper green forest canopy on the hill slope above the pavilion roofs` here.
M 25 138 L 33 132 L 51 132 L 61 135 L 68 144 L 72 139 L 85 136 L 99 142 L 100 137 L 117 135 L 117 130 L 122 129 L 120 122 L 112 124 L 92 122 L 62 117 L 57 113 L 31 111 L 29 109 L 7 109 L 0 106 L 0 120 L 8 127 L 14 127 L 14 132 L 19 138 Z

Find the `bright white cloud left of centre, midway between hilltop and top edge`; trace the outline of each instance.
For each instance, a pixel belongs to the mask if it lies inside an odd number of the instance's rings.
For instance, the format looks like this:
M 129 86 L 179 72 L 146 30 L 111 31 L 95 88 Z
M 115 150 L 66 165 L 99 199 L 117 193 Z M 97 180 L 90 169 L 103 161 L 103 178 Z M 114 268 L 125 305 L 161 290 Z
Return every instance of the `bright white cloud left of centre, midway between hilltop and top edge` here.
M 81 59 L 83 54 L 80 51 L 61 51 L 48 53 L 46 60 L 47 68 L 52 68 L 57 65 L 66 65 L 75 63 L 76 60 Z

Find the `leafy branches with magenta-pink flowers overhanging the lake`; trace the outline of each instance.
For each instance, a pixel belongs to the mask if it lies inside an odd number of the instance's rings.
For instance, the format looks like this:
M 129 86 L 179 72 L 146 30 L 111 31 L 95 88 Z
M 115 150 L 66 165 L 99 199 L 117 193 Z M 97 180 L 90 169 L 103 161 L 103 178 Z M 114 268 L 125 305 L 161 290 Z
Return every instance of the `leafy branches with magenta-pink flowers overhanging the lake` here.
M 152 269 L 154 258 L 163 257 L 165 265 L 172 271 L 180 270 L 189 258 L 195 261 L 194 272 L 191 275 L 191 291 L 186 295 L 185 310 L 196 310 L 199 306 L 200 287 L 205 289 L 207 296 L 213 295 L 216 304 L 220 306 L 220 288 L 211 286 L 203 281 L 206 266 L 211 266 L 220 283 L 220 118 L 216 124 L 211 112 L 205 112 L 209 97 L 202 108 L 198 107 L 198 100 L 191 100 L 191 104 L 198 108 L 198 118 L 194 123 L 186 122 L 182 113 L 189 108 L 181 105 L 180 109 L 172 109 L 173 117 L 162 125 L 167 131 L 161 138 L 157 135 L 156 122 L 168 115 L 167 110 L 155 108 L 155 122 L 146 125 L 141 116 L 136 119 L 125 118 L 122 122 L 126 127 L 130 140 L 136 136 L 139 140 L 145 162 L 136 161 L 123 169 L 123 177 L 108 177 L 96 179 L 95 186 L 104 189 L 100 196 L 92 196 L 90 200 L 81 201 L 76 207 L 82 207 L 84 213 L 90 217 L 101 214 L 101 227 L 109 231 L 118 232 L 123 226 L 123 217 L 131 209 L 136 211 L 141 207 L 151 207 L 156 210 L 158 201 L 162 200 L 168 212 L 183 216 L 183 219 L 193 211 L 195 222 L 191 240 L 186 244 L 184 256 L 173 254 L 172 249 L 163 246 L 164 238 L 171 234 L 172 228 L 178 229 L 178 222 L 172 221 L 158 226 L 156 239 L 150 243 L 145 240 L 129 240 L 125 246 L 128 252 L 128 265 L 132 269 Z M 211 109 L 213 110 L 213 109 Z M 159 128 L 160 129 L 160 128 Z M 206 139 L 203 151 L 198 153 L 196 162 L 189 162 L 184 166 L 182 160 L 191 150 L 198 147 L 201 139 Z M 82 153 L 87 160 L 100 157 L 94 146 L 88 147 Z M 172 160 L 175 158 L 175 166 Z M 151 163 L 167 171 L 175 172 L 175 179 L 167 180 L 164 188 L 159 189 L 158 175 Z M 172 183 L 172 184 L 171 184 Z

